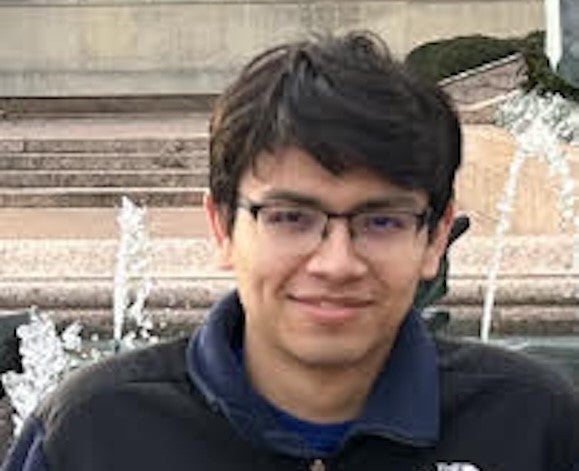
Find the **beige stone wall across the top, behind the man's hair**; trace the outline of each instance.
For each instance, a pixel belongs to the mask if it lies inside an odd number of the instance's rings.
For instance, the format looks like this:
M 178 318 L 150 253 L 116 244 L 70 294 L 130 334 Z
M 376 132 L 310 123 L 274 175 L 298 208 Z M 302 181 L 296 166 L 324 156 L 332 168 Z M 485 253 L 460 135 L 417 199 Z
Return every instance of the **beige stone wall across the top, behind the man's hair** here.
M 542 24 L 543 0 L 1 0 L 0 97 L 215 93 L 256 51 L 311 32 L 369 28 L 403 55 Z

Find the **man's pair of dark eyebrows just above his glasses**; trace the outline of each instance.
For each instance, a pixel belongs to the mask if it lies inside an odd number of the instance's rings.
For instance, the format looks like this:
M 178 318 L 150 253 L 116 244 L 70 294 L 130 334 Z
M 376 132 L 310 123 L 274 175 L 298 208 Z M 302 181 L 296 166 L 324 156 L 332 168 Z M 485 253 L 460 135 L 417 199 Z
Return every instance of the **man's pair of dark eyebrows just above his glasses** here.
M 291 190 L 269 190 L 266 191 L 262 196 L 262 201 L 282 201 L 289 202 L 304 206 L 311 206 L 320 209 L 327 209 L 327 205 L 324 204 L 319 198 L 304 195 L 303 193 L 298 193 Z M 370 198 L 368 200 L 362 201 L 356 204 L 350 211 L 360 211 L 365 209 L 374 208 L 409 208 L 417 209 L 419 206 L 418 201 L 412 195 L 405 194 L 394 194 L 379 198 Z

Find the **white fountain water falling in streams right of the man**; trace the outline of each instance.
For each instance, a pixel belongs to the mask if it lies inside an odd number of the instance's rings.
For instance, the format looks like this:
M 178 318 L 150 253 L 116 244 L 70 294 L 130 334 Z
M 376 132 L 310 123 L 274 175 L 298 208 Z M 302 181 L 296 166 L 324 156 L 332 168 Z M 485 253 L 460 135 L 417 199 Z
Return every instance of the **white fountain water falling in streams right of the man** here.
M 545 53 L 551 68 L 570 87 L 579 87 L 579 6 L 574 0 L 545 0 L 547 34 Z M 576 211 L 575 182 L 564 144 L 579 145 L 579 105 L 561 95 L 541 96 L 536 90 L 515 92 L 499 108 L 499 125 L 516 140 L 517 150 L 509 168 L 503 197 L 498 205 L 499 222 L 495 231 L 495 251 L 487 277 L 487 291 L 481 318 L 480 338 L 489 341 L 497 276 L 509 229 L 510 214 L 517 191 L 521 167 L 529 158 L 545 161 L 552 177 L 559 180 L 559 210 L 562 223 L 573 232 L 572 272 L 579 271 L 579 215 Z M 577 290 L 579 300 L 579 288 Z

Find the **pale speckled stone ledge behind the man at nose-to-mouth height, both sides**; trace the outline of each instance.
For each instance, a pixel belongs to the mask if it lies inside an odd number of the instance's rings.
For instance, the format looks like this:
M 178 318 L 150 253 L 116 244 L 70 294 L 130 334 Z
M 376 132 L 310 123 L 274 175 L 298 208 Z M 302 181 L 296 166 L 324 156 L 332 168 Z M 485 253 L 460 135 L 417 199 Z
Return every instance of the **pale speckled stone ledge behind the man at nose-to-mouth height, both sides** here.
M 150 239 L 155 309 L 204 308 L 233 286 L 220 270 L 206 237 Z M 499 272 L 497 309 L 534 306 L 579 320 L 579 272 L 569 237 L 510 237 Z M 453 309 L 482 312 L 494 241 L 466 235 L 451 250 L 449 293 Z M 0 309 L 35 304 L 42 309 L 110 309 L 116 239 L 0 239 Z M 532 261 L 532 263 L 531 263 Z M 578 324 L 579 326 L 579 324 Z

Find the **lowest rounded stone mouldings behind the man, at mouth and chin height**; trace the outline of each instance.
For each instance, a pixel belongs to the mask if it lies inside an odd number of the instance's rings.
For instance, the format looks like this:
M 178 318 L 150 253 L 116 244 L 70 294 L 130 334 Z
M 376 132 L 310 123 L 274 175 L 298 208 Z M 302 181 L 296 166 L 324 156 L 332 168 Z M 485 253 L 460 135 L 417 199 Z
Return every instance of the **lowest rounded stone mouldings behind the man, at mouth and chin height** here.
M 569 293 L 578 278 L 546 274 L 529 279 L 499 280 L 493 309 L 493 332 L 516 335 L 577 335 L 579 310 Z M 227 274 L 155 278 L 146 309 L 161 334 L 186 333 L 199 324 L 210 306 L 233 289 Z M 478 335 L 483 312 L 484 281 L 451 278 L 451 291 L 438 306 L 451 314 L 450 332 Z M 537 291 L 537 288 L 539 290 Z M 531 294 L 534 291 L 535 294 Z M 512 296 L 513 293 L 518 293 Z M 60 325 L 79 321 L 85 332 L 111 335 L 112 278 L 0 280 L 0 316 L 36 306 Z M 104 337 L 103 337 L 104 338 Z

